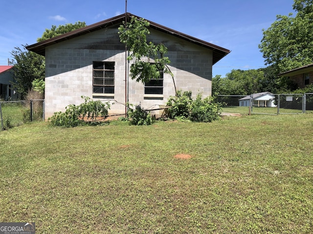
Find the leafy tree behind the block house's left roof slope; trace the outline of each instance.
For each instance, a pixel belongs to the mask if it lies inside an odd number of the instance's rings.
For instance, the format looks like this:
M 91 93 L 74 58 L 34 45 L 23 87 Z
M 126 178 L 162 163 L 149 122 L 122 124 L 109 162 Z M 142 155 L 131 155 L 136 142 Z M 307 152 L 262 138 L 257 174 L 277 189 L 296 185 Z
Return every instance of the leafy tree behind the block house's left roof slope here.
M 84 26 L 86 26 L 85 22 L 69 23 L 59 25 L 59 27 L 52 25 L 51 29 L 46 29 L 43 36 L 37 41 L 51 39 Z M 32 87 L 41 92 L 44 91 L 45 87 L 43 82 L 45 80 L 45 57 L 28 51 L 25 47 L 25 45 L 22 45 L 22 48 L 14 47 L 11 52 L 13 59 L 10 61 L 10 65 L 14 66 L 13 77 L 15 82 L 12 85 L 22 95 L 22 98 Z

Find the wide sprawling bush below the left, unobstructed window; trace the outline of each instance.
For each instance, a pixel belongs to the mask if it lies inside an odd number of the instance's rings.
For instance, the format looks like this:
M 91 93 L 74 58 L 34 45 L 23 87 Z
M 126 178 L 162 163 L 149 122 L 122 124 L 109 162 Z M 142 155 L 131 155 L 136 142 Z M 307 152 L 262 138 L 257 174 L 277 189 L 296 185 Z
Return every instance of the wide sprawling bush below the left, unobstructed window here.
M 70 104 L 66 107 L 65 113 L 56 112 L 48 120 L 54 126 L 76 127 L 79 125 L 100 125 L 102 121 L 97 120 L 101 117 L 104 120 L 108 117 L 109 102 L 94 101 L 91 98 L 83 97 L 85 102 L 76 106 Z

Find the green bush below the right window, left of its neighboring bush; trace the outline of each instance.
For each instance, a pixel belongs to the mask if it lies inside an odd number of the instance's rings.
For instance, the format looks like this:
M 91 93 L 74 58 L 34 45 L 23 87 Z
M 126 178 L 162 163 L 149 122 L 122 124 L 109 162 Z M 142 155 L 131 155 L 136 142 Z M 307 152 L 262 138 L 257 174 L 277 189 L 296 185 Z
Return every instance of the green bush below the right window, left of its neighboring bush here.
M 189 117 L 192 104 L 191 91 L 178 90 L 175 97 L 170 97 L 166 103 L 170 108 L 167 113 L 170 118 Z

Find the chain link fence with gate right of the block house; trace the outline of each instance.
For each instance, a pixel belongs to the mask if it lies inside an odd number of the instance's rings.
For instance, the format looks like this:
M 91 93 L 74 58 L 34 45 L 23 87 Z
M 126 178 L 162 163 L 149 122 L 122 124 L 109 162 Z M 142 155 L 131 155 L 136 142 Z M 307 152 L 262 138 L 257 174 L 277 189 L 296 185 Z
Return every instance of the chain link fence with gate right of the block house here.
M 242 115 L 249 113 L 267 115 L 313 113 L 313 93 L 219 95 L 216 97 L 216 101 L 222 103 L 225 113 Z

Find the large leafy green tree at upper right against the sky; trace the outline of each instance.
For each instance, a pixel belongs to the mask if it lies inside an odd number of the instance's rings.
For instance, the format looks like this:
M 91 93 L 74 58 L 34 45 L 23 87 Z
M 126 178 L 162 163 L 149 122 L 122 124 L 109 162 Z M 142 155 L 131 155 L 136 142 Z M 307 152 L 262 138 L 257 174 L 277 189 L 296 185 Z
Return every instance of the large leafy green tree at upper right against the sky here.
M 313 0 L 294 0 L 293 17 L 278 15 L 259 44 L 266 64 L 285 72 L 313 62 Z

